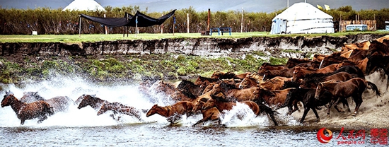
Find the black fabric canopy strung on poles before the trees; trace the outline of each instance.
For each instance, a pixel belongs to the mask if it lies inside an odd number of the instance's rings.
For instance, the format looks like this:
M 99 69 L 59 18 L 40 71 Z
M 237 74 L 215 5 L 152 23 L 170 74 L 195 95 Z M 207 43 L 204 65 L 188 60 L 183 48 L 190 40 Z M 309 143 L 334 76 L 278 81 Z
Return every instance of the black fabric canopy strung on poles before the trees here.
M 80 14 L 80 26 L 81 26 L 81 18 L 86 18 L 88 20 L 100 23 L 102 25 L 106 25 L 108 27 L 149 27 L 153 25 L 161 25 L 168 18 L 174 15 L 176 10 L 167 13 L 160 18 L 151 18 L 150 16 L 146 16 L 144 13 L 137 11 L 134 16 L 129 13 L 125 13 L 123 18 L 102 18 L 95 16 L 87 16 L 85 14 Z M 79 28 L 79 33 L 81 35 L 81 27 Z

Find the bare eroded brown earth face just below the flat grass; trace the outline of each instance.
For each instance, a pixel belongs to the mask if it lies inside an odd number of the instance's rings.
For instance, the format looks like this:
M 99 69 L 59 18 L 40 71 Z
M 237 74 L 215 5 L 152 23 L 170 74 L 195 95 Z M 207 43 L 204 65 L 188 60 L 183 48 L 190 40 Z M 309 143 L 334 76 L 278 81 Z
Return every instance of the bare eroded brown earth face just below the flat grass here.
M 301 54 L 331 54 L 344 43 L 373 40 L 383 35 L 360 34 L 344 37 L 249 37 L 240 39 L 176 38 L 162 40 L 118 40 L 66 44 L 61 42 L 0 43 L 0 56 L 91 56 L 178 53 L 198 56 L 230 56 L 260 51 L 279 57 Z M 286 53 L 280 51 L 287 50 Z

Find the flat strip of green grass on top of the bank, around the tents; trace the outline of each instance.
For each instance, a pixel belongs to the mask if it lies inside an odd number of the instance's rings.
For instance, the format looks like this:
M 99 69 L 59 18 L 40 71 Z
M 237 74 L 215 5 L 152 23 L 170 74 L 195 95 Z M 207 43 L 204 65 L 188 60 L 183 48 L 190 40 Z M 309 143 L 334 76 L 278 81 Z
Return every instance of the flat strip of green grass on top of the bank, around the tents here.
M 344 33 L 329 33 L 329 34 L 288 34 L 288 35 L 269 35 L 269 32 L 250 32 L 250 33 L 231 33 L 231 35 L 212 35 L 204 36 L 200 33 L 157 33 L 157 34 L 146 34 L 141 33 L 138 35 L 127 34 L 123 37 L 122 34 L 81 34 L 79 35 L 0 35 L 0 42 L 64 42 L 64 43 L 81 43 L 81 42 L 100 42 L 100 41 L 112 41 L 112 40 L 161 40 L 168 38 L 199 38 L 199 37 L 210 37 L 210 38 L 245 38 L 245 37 L 320 37 L 323 35 L 341 37 L 346 35 L 356 34 L 388 34 L 388 31 L 376 31 L 376 32 L 344 32 Z

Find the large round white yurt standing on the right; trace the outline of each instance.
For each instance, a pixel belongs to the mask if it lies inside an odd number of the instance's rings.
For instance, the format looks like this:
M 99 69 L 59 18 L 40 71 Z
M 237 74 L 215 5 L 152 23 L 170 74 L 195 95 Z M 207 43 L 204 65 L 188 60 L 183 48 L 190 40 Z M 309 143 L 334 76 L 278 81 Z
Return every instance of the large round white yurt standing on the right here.
M 334 33 L 332 16 L 308 3 L 296 3 L 272 19 L 270 34 Z

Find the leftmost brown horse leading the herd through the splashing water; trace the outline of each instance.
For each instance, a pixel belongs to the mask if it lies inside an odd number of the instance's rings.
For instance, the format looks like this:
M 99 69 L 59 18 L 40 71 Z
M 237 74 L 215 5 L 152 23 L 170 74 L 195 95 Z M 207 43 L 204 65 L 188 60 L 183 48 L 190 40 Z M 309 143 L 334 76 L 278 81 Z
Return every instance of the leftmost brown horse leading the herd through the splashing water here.
M 21 119 L 21 125 L 24 124 L 27 119 L 35 119 L 39 118 L 38 123 L 47 119 L 47 115 L 54 114 L 52 107 L 42 100 L 26 103 L 21 102 L 11 91 L 6 91 L 6 95 L 4 95 L 4 99 L 1 100 L 1 107 L 11 106 L 12 110 L 16 113 L 16 117 Z

